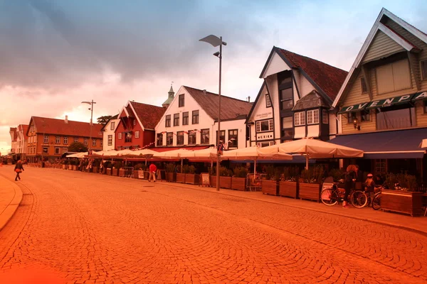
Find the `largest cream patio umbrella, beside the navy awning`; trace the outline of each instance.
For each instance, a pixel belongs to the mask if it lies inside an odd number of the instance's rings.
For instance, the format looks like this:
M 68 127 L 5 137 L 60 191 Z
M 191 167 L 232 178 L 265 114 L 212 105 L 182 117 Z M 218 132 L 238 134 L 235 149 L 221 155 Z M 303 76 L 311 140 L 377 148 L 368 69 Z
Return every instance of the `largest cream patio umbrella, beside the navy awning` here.
M 334 143 L 312 138 L 303 138 L 295 141 L 280 143 L 260 148 L 260 151 L 276 149 L 279 153 L 297 153 L 305 156 L 305 168 L 308 169 L 308 160 L 311 158 L 362 158 L 363 151 L 340 146 Z

